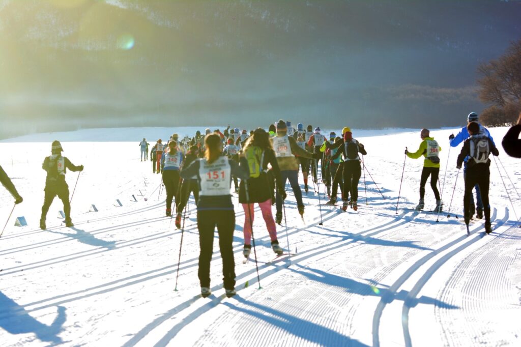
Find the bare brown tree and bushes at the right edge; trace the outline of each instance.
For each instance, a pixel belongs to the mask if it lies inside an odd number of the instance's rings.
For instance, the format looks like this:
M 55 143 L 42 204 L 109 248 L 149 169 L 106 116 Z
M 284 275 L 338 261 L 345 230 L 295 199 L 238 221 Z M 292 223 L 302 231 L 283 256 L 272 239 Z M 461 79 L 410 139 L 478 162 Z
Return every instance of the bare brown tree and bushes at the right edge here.
M 480 121 L 489 127 L 512 126 L 521 112 L 521 40 L 496 60 L 478 67 L 479 98 L 490 105 Z

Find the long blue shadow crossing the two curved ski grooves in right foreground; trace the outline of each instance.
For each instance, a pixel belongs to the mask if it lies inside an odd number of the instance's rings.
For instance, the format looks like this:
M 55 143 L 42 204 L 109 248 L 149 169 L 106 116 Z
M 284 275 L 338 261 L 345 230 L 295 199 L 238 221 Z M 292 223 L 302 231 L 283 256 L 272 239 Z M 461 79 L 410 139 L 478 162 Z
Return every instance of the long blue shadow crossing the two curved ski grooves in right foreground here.
M 329 274 L 328 272 L 313 269 L 309 267 L 304 267 L 301 265 L 296 265 L 304 270 L 297 270 L 295 268 L 288 268 L 290 271 L 295 272 L 296 274 L 300 274 L 302 276 L 307 277 L 310 280 L 315 282 L 322 282 L 328 284 L 329 286 L 335 286 L 338 288 L 345 289 L 348 293 L 353 293 L 357 295 L 363 296 L 378 296 L 381 300 L 386 302 L 392 302 L 393 300 L 400 300 L 403 302 L 408 302 L 407 294 L 408 292 L 405 290 L 401 290 L 398 293 L 392 292 L 389 288 L 385 288 L 387 286 L 381 286 L 379 283 L 374 282 L 373 286 L 369 284 L 355 281 L 351 278 L 341 277 L 333 274 Z M 438 299 L 429 298 L 428 296 L 421 296 L 421 298 L 416 299 L 416 304 L 427 304 L 427 305 L 436 305 L 438 307 L 447 308 L 447 309 L 457 309 L 460 308 L 458 306 L 450 305 Z

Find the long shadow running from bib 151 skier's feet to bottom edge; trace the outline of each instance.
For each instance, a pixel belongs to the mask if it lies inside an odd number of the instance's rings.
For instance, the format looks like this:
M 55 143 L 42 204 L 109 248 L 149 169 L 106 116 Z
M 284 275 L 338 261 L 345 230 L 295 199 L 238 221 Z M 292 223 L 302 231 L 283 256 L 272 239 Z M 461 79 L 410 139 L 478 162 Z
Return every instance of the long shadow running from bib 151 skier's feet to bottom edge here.
M 289 315 L 265 305 L 246 301 L 240 296 L 236 296 L 235 298 L 242 305 L 249 306 L 250 308 L 233 305 L 230 302 L 224 302 L 222 304 L 234 311 L 262 319 L 274 327 L 286 330 L 295 337 L 300 337 L 306 341 L 316 343 L 317 345 L 324 345 L 325 341 L 327 341 L 327 344 L 331 346 L 367 347 L 366 344 L 352 339 L 349 336 L 342 335 L 338 331 L 331 330 L 324 326 L 312 323 L 311 321 Z

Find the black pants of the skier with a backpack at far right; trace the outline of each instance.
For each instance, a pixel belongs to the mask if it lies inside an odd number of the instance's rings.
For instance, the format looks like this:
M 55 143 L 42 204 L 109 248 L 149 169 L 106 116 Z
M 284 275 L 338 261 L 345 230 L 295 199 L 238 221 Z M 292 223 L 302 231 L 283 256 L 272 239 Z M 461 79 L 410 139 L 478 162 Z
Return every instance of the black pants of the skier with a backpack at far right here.
M 478 166 L 479 165 L 479 166 Z M 470 199 L 472 198 L 472 190 L 478 185 L 481 193 L 481 201 L 483 202 L 483 212 L 485 212 L 485 222 L 490 223 L 490 205 L 488 191 L 490 186 L 490 168 L 487 164 L 478 164 L 467 169 L 465 175 L 465 195 L 463 197 L 463 210 L 465 223 L 468 224 L 470 217 Z

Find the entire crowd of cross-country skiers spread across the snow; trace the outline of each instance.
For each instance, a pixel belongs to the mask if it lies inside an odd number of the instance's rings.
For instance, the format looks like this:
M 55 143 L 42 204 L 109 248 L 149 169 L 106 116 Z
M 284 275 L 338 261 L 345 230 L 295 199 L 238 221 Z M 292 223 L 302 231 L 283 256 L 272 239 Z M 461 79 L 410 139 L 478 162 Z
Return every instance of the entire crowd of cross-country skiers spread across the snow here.
M 464 167 L 465 194 L 464 219 L 468 225 L 474 213 L 481 219 L 485 216 L 487 233 L 491 231 L 490 205 L 488 199 L 490 159 L 489 155 L 499 155 L 488 130 L 478 122 L 478 115 L 470 113 L 468 124 L 456 135 L 449 138 L 450 146 L 456 147 L 463 142 L 456 167 Z M 503 139 L 505 152 L 521 157 L 521 144 L 518 139 L 521 132 L 521 115 L 518 124 L 512 127 Z M 442 209 L 440 193 L 437 188 L 441 147 L 430 136 L 428 129 L 420 132 L 421 143 L 416 152 L 405 155 L 410 158 L 424 157 L 424 168 L 420 177 L 420 201 L 416 209 L 425 206 L 425 185 L 431 178 L 430 185 L 436 198 L 436 210 Z M 141 160 L 147 160 L 148 146 L 146 139 L 139 144 Z M 67 169 L 82 171 L 83 166 L 75 166 L 66 157 L 61 156 L 63 148 L 58 141 L 52 143 L 51 156 L 45 158 L 43 169 L 47 172 L 45 197 L 40 220 L 41 229 L 46 229 L 45 218 L 55 196 L 64 204 L 66 226 L 73 226 L 70 218 L 69 189 L 65 181 Z M 258 204 L 271 239 L 272 250 L 282 254 L 283 250 L 277 239 L 276 224 L 281 224 L 283 204 L 286 199 L 286 182 L 293 190 L 297 209 L 304 215 L 302 191 L 298 183 L 299 171 L 302 171 L 304 190 L 308 192 L 308 176 L 311 172 L 314 186 L 318 184 L 318 169 L 321 181 L 327 187 L 329 204 L 336 203 L 338 187 L 342 195 L 342 209 L 351 206 L 357 210 L 358 184 L 364 166 L 365 146 L 353 138 L 351 129 L 344 127 L 341 136 L 331 132 L 326 138 L 320 128 L 313 130 L 311 125 L 304 129 L 302 123 L 293 128 L 290 122 L 279 120 L 271 124 L 268 131 L 257 128 L 250 132 L 239 128 L 224 132 L 218 129 L 195 133 L 193 138 L 185 136 L 179 139 L 173 134 L 166 144 L 158 140 L 150 150 L 152 172 L 161 173 L 166 190 L 166 215 L 176 215 L 176 227 L 181 228 L 183 209 L 190 194 L 194 195 L 197 205 L 197 227 L 200 234 L 199 279 L 201 294 L 210 295 L 209 265 L 212 258 L 214 230 L 219 234 L 219 249 L 223 260 L 223 276 L 226 294 L 235 294 L 234 258 L 232 251 L 235 213 L 231 201 L 231 182 L 239 194 L 239 203 L 245 213 L 243 255 L 247 258 L 251 252 L 252 224 L 254 204 Z M 320 165 L 319 165 L 320 163 Z M 405 166 L 405 163 L 404 163 Z M 240 182 L 239 182 L 240 179 Z M 22 197 L 0 167 L 0 180 L 15 197 L 15 203 L 21 203 Z M 315 188 L 314 188 L 315 189 Z M 476 190 L 476 203 L 472 191 Z M 316 191 L 316 189 L 315 189 Z M 172 213 L 172 203 L 175 212 Z M 272 205 L 276 205 L 275 218 Z

